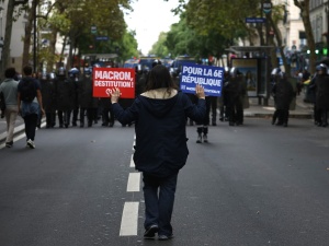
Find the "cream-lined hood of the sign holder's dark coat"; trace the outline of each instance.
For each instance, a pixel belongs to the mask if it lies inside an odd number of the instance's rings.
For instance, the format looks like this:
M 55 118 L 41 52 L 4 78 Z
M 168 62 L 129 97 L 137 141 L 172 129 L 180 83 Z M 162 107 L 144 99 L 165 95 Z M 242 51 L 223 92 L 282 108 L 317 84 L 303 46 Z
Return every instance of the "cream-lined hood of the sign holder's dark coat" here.
M 150 90 L 139 96 L 141 104 L 155 117 L 162 118 L 174 107 L 178 91 L 168 89 Z

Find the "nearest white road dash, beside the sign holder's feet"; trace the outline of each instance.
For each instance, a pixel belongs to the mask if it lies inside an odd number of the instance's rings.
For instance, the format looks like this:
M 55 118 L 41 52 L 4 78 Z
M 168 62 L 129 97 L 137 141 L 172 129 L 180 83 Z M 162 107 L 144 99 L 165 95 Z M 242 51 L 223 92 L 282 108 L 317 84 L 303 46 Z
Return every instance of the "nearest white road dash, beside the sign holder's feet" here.
M 139 202 L 125 202 L 122 220 L 121 220 L 121 236 L 137 236 Z

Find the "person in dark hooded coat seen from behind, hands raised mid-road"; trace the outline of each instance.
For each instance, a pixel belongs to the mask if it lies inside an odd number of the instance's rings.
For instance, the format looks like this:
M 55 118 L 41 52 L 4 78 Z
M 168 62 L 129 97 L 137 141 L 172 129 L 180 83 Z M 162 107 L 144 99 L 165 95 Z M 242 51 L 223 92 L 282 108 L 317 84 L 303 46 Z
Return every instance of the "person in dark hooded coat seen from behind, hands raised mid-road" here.
M 143 172 L 145 198 L 145 238 L 172 238 L 171 215 L 178 173 L 189 155 L 186 117 L 201 121 L 206 114 L 204 89 L 196 85 L 197 104 L 178 91 L 169 70 L 158 65 L 148 74 L 146 92 L 126 109 L 117 103 L 120 90 L 113 90 L 111 102 L 121 124 L 135 121 L 134 162 Z

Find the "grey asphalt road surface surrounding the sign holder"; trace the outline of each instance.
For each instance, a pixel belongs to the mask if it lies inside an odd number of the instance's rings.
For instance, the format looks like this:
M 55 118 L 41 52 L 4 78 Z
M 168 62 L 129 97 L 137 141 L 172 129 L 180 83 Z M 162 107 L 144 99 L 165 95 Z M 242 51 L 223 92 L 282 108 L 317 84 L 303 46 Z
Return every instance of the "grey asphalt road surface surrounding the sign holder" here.
M 195 143 L 195 127 L 188 137 L 170 242 L 143 239 L 134 128 L 41 129 L 35 150 L 24 138 L 0 149 L 0 245 L 329 245 L 328 128 L 247 118 L 209 127 L 209 143 Z

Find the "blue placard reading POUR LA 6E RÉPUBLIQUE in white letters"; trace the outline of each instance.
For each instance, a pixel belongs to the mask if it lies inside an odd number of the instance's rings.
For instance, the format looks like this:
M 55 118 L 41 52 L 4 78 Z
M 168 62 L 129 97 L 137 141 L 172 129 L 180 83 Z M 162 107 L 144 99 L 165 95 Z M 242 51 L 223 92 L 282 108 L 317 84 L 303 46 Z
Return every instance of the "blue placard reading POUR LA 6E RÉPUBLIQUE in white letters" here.
M 224 80 L 224 68 L 183 63 L 180 80 L 184 93 L 195 94 L 195 85 L 204 87 L 205 95 L 220 96 Z

